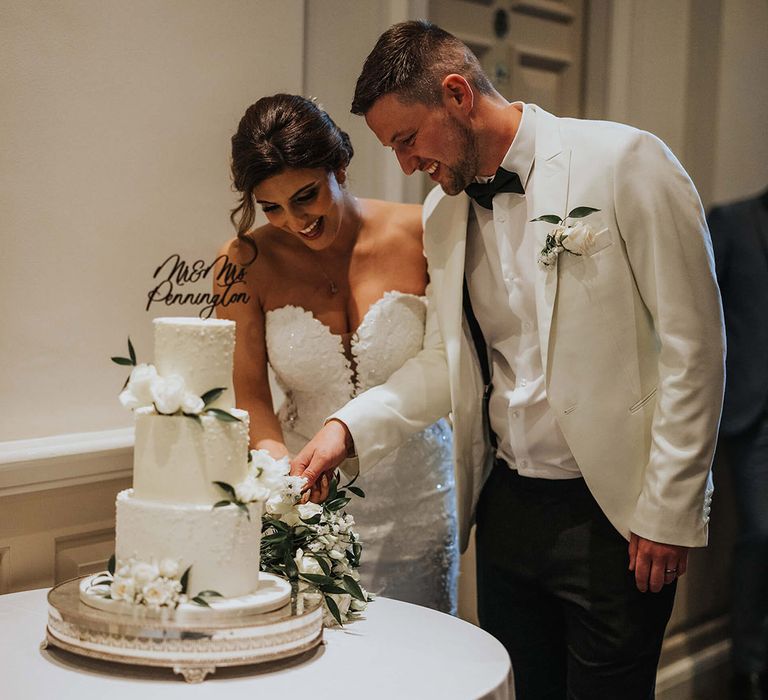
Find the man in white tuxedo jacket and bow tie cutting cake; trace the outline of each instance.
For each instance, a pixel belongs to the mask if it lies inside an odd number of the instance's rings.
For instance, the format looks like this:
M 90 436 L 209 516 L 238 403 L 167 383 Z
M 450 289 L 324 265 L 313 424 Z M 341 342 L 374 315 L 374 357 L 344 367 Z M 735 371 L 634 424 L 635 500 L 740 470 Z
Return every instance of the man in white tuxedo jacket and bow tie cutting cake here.
M 450 412 L 462 546 L 517 697 L 652 698 L 707 542 L 723 323 L 704 213 L 657 138 L 508 103 L 428 22 L 387 30 L 352 111 L 424 205 L 424 348 L 297 455 L 362 471 Z M 344 467 L 354 471 L 349 460 Z

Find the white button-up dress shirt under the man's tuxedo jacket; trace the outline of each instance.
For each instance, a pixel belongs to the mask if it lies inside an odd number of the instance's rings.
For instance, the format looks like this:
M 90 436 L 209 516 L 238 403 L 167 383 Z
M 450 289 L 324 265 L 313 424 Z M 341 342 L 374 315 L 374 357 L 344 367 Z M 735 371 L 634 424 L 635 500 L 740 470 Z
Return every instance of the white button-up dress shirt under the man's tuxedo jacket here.
M 501 166 L 516 172 L 525 187 L 535 167 L 536 110 L 514 106 L 523 116 Z M 491 428 L 497 455 L 522 476 L 576 478 L 581 472 L 547 401 L 534 295 L 535 276 L 542 272 L 536 241 L 522 235 L 530 217 L 525 195 L 516 193 L 497 194 L 493 211 L 474 201 L 470 207 L 465 269 L 490 352 Z

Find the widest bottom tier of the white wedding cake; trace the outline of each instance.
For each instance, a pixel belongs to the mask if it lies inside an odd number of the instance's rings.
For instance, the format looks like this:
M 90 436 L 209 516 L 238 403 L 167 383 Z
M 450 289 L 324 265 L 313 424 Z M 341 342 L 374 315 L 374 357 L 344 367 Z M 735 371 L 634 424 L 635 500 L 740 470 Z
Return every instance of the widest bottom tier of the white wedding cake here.
M 216 591 L 225 598 L 253 593 L 259 583 L 261 503 L 248 514 L 234 505 L 156 503 L 117 496 L 115 557 L 120 562 L 177 560 L 188 567 L 187 595 Z

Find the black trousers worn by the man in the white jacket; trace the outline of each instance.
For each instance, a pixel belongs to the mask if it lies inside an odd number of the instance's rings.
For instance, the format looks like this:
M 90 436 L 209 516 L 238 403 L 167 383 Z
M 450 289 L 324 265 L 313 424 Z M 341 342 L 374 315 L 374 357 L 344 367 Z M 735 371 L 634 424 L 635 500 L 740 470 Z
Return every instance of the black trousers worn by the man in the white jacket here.
M 583 479 L 497 462 L 478 504 L 478 614 L 517 700 L 652 700 L 675 584 L 640 593 L 626 540 Z

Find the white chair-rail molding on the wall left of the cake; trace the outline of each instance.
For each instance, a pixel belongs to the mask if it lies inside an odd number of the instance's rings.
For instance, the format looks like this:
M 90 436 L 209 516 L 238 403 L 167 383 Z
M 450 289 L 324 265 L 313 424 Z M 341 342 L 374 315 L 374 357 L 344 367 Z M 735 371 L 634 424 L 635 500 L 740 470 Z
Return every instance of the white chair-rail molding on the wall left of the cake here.
M 129 477 L 133 428 L 0 442 L 0 497 Z

